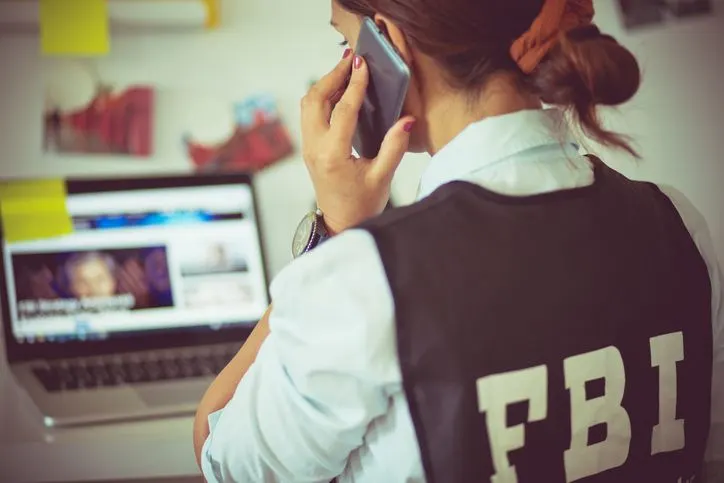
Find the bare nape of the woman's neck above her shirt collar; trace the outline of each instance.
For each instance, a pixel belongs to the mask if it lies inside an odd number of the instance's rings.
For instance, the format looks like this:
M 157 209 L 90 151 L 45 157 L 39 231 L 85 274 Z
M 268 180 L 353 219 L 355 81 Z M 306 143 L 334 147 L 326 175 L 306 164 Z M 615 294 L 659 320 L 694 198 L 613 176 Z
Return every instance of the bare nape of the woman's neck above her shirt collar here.
M 477 96 L 449 89 L 444 92 L 428 97 L 433 99 L 427 104 L 427 151 L 431 155 L 440 151 L 472 123 L 488 117 L 542 108 L 540 99 L 520 89 L 511 74 L 493 76 Z

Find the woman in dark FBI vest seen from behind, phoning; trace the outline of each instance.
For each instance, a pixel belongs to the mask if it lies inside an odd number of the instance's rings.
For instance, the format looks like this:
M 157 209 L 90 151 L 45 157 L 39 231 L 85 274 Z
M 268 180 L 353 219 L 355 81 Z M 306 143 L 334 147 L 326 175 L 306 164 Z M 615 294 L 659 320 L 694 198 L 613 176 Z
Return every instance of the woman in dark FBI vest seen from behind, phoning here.
M 630 99 L 639 68 L 591 1 L 332 12 L 352 49 L 365 16 L 387 32 L 412 72 L 405 116 L 377 159 L 350 156 L 369 75 L 351 50 L 304 99 L 334 236 L 275 280 L 201 403 L 205 476 L 699 481 L 723 404 L 721 276 L 683 196 L 578 154 L 563 111 L 634 153 L 596 108 Z M 406 151 L 433 156 L 419 201 L 378 216 Z

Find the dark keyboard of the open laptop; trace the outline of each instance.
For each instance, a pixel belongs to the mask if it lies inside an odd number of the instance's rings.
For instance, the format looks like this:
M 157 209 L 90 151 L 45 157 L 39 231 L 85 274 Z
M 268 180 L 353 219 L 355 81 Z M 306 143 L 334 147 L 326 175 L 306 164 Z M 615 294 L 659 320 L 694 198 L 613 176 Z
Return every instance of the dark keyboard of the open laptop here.
M 108 358 L 52 361 L 32 371 L 49 392 L 113 387 L 215 376 L 236 355 L 238 346 L 193 352 L 149 352 Z

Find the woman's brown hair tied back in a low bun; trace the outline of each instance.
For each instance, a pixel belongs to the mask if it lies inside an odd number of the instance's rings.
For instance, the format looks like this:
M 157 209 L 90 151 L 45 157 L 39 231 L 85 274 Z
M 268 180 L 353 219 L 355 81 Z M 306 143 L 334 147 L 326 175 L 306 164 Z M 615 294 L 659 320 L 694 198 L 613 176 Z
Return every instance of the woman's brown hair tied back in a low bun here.
M 573 114 L 581 130 L 603 145 L 638 157 L 627 138 L 606 130 L 598 106 L 618 106 L 638 92 L 641 72 L 633 54 L 590 25 L 560 35 L 538 68 L 526 75 L 510 54 L 531 26 L 543 0 L 336 0 L 358 15 L 380 13 L 432 57 L 450 85 L 476 92 L 500 71 L 516 72 L 543 102 Z

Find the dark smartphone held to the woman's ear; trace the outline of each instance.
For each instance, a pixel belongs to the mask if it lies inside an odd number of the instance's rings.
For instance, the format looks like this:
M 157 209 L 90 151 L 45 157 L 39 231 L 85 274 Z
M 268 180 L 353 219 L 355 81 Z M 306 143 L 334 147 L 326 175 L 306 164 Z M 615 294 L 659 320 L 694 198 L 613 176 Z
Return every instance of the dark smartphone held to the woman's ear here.
M 352 147 L 363 158 L 377 157 L 387 131 L 400 119 L 410 86 L 410 69 L 384 32 L 367 17 L 357 40 L 357 55 L 370 73 Z

